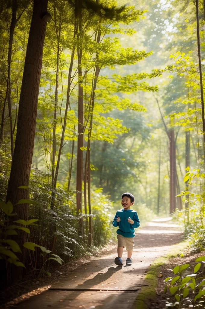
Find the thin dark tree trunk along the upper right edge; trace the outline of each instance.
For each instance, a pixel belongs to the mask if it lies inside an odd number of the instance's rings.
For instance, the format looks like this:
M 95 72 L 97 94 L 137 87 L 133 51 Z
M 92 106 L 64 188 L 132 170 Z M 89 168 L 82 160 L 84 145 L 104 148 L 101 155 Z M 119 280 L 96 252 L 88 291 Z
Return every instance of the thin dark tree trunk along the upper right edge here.
M 202 80 L 200 33 L 199 33 L 199 0 L 196 0 L 196 30 L 197 30 L 197 47 L 199 57 L 199 75 L 200 75 L 200 90 L 201 90 L 202 124 L 203 124 L 203 155 L 205 163 L 205 119 L 204 119 L 203 80 Z

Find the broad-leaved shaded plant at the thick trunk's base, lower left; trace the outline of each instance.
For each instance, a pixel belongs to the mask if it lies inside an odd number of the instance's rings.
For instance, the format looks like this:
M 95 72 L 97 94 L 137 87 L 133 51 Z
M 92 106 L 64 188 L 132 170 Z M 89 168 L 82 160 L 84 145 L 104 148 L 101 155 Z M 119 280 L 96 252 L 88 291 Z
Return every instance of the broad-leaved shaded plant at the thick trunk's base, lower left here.
M 33 204 L 35 203 L 35 201 L 22 199 L 16 205 L 28 204 L 28 203 Z M 34 222 L 37 222 L 38 219 L 30 219 L 28 221 L 19 219 L 19 220 L 13 221 L 14 224 L 11 225 L 9 224 L 10 217 L 16 215 L 15 213 L 13 213 L 14 207 L 12 203 L 10 201 L 8 201 L 7 203 L 0 202 L 0 208 L 2 209 L 3 213 L 6 215 L 5 222 L 2 226 L 2 230 L 0 231 L 0 260 L 5 260 L 6 262 L 9 262 L 10 264 L 14 264 L 16 266 L 21 266 L 21 267 L 26 268 L 25 265 L 20 261 L 19 256 L 18 256 L 19 253 L 22 254 L 19 244 L 15 240 L 9 239 L 9 237 L 13 235 L 18 235 L 16 230 L 22 230 L 29 235 L 30 229 L 27 226 L 29 225 L 38 226 L 36 223 L 34 223 Z M 16 225 L 16 223 L 19 225 Z M 45 247 L 42 247 L 36 243 L 32 243 L 29 241 L 23 243 L 23 247 L 29 250 L 32 250 L 32 251 L 35 251 L 35 247 L 39 247 L 42 250 L 42 252 L 44 252 L 45 254 L 51 253 L 51 251 L 47 250 Z M 15 253 L 17 253 L 17 255 Z M 45 260 L 44 265 L 46 264 L 46 262 L 48 262 L 48 265 L 49 265 L 50 260 L 55 260 L 56 262 L 62 265 L 63 260 L 60 258 L 60 256 L 56 254 L 52 254 L 52 256 L 53 257 L 49 257 L 48 259 Z M 44 271 L 45 273 L 47 273 L 48 276 L 50 276 L 51 274 L 48 272 L 48 266 L 46 270 L 44 270 L 44 265 L 42 266 L 40 270 L 39 276 L 42 273 L 42 271 Z

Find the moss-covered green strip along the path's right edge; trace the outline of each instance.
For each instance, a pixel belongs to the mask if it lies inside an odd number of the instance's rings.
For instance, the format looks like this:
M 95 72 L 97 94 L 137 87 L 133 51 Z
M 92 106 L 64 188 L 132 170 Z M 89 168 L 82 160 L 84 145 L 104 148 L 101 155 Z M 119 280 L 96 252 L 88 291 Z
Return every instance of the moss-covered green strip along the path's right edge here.
M 176 257 L 177 253 L 185 249 L 188 244 L 187 241 L 182 241 L 172 246 L 171 250 L 165 256 L 161 256 L 152 262 L 144 278 L 143 286 L 133 303 L 132 309 L 150 308 L 152 301 L 157 297 L 156 288 L 161 266 L 168 264 L 169 260 Z

